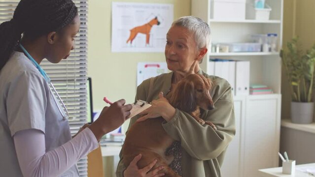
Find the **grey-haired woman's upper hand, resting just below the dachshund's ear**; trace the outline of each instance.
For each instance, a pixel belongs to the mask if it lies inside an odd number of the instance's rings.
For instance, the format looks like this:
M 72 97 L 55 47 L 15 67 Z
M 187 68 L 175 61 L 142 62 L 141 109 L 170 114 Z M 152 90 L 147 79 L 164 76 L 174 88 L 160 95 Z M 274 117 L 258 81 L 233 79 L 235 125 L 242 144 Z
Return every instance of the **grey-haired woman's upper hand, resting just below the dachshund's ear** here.
M 159 99 L 151 102 L 151 107 L 142 111 L 139 115 L 142 116 L 137 121 L 143 121 L 148 118 L 163 117 L 165 120 L 171 120 L 175 115 L 175 108 L 169 103 L 169 101 L 163 96 L 163 92 L 160 92 Z

